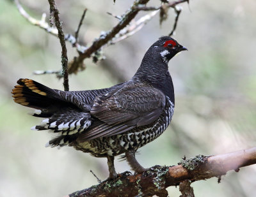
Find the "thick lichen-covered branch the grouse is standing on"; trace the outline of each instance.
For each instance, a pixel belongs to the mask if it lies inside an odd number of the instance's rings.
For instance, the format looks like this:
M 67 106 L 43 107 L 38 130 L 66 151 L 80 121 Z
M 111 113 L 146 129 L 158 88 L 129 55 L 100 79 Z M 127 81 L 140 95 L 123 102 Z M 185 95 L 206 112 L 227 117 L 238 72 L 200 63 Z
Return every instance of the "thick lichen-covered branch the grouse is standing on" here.
M 199 158 L 199 159 L 198 159 Z M 193 168 L 189 163 L 193 161 Z M 195 165 L 195 162 L 198 163 Z M 122 175 L 116 180 L 102 182 L 69 196 L 167 196 L 166 187 L 179 186 L 184 196 L 193 196 L 191 182 L 220 177 L 229 170 L 238 171 L 243 166 L 256 163 L 256 147 L 218 156 L 200 156 L 189 159 L 186 166 L 154 166 L 138 175 Z M 190 170 L 188 170 L 188 168 Z

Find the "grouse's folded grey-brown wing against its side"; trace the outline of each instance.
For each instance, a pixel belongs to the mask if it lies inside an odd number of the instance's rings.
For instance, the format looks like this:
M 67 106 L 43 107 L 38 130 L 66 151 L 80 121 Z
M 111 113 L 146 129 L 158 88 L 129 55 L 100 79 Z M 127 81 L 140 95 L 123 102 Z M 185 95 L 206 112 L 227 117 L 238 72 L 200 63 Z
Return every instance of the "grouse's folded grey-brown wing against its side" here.
M 159 117 L 164 105 L 163 92 L 154 87 L 124 88 L 110 96 L 100 96 L 95 99 L 90 113 L 101 124 L 81 134 L 79 141 L 117 135 L 150 124 Z

